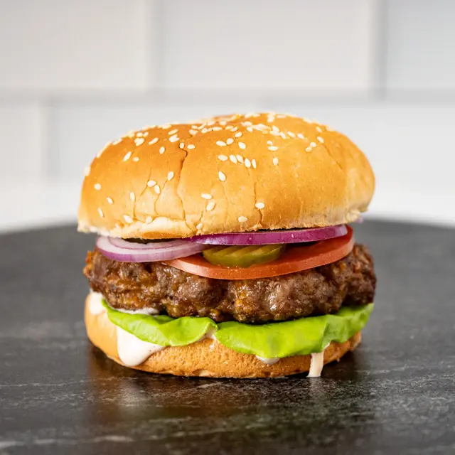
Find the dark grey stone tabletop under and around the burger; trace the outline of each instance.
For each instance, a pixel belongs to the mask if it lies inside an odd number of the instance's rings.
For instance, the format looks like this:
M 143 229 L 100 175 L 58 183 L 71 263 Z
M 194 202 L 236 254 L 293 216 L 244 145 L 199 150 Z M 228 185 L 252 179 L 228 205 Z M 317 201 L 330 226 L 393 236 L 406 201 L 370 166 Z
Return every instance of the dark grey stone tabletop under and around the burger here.
M 137 373 L 85 338 L 93 237 L 0 236 L 0 454 L 448 454 L 455 451 L 455 230 L 368 222 L 376 308 L 323 377 Z

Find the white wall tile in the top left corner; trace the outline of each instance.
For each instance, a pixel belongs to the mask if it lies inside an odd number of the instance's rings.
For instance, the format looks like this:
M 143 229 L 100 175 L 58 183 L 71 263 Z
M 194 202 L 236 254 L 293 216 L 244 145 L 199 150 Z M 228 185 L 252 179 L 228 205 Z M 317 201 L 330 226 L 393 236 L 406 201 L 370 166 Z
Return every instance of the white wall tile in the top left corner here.
M 146 0 L 4 0 L 0 90 L 137 89 L 153 43 Z

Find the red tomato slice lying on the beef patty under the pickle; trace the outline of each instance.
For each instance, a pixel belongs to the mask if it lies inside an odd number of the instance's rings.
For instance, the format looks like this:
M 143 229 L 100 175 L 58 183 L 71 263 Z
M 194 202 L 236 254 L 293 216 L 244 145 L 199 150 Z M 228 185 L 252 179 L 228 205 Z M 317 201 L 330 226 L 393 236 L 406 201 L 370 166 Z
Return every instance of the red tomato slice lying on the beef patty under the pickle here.
M 306 247 L 289 247 L 278 259 L 264 264 L 255 264 L 242 269 L 210 264 L 202 255 L 193 255 L 164 261 L 176 269 L 216 279 L 255 279 L 278 277 L 301 270 L 314 269 L 321 265 L 336 262 L 347 256 L 354 247 L 353 230 L 348 226 L 348 233 L 343 237 L 321 240 Z

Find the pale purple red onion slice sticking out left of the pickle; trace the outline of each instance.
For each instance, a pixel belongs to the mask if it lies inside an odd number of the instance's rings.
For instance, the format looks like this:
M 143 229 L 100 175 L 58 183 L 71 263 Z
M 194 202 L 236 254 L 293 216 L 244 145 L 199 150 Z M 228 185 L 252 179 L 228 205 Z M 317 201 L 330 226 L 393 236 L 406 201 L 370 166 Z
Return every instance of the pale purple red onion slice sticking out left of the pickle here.
M 117 239 L 118 240 L 118 239 Z M 126 247 L 118 246 L 122 242 L 116 241 L 114 245 L 110 237 L 97 237 L 97 249 L 105 257 L 119 262 L 157 262 L 178 259 L 195 255 L 205 250 L 205 245 L 198 243 L 184 242 L 183 240 L 172 240 L 170 242 L 154 242 L 153 247 L 140 243 L 127 242 Z M 146 248 L 144 248 L 146 247 Z

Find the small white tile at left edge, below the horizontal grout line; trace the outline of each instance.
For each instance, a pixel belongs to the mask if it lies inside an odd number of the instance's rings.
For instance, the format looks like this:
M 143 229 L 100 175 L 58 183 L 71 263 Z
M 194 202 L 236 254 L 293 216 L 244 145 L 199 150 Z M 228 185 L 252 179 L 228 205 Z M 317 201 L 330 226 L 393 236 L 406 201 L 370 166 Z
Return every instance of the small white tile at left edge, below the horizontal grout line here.
M 34 103 L 0 105 L 0 181 L 26 186 L 43 177 L 44 120 L 43 109 Z

